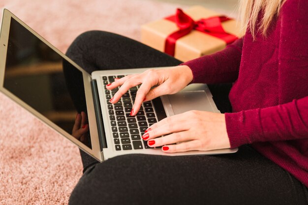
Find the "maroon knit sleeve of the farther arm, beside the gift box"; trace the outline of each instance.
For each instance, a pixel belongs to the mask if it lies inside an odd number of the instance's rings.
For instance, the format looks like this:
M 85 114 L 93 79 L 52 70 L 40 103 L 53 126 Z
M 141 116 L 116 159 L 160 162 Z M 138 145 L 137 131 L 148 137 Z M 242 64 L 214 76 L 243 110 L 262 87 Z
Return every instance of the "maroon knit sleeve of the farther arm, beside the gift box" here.
M 240 38 L 220 52 L 181 65 L 187 65 L 191 69 L 193 74 L 191 83 L 231 83 L 239 75 L 242 47 L 243 38 Z

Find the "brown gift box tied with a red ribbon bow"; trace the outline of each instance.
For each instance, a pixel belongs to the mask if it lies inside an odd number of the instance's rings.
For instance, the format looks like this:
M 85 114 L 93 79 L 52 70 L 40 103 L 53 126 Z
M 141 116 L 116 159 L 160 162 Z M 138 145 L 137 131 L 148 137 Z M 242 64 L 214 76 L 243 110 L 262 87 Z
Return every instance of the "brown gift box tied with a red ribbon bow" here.
M 242 36 L 237 22 L 202 6 L 142 26 L 142 43 L 187 61 L 223 50 Z

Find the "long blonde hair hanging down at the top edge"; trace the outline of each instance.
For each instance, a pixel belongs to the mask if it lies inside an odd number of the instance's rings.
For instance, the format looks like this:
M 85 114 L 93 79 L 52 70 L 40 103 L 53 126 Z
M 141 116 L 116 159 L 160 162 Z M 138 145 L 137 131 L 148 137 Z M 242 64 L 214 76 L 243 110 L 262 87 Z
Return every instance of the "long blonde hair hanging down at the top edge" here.
M 266 36 L 273 19 L 279 15 L 279 10 L 285 0 L 240 0 L 239 20 L 243 30 L 250 29 L 253 38 L 258 31 Z M 263 17 L 257 22 L 259 12 Z M 256 30 L 257 29 L 257 30 Z

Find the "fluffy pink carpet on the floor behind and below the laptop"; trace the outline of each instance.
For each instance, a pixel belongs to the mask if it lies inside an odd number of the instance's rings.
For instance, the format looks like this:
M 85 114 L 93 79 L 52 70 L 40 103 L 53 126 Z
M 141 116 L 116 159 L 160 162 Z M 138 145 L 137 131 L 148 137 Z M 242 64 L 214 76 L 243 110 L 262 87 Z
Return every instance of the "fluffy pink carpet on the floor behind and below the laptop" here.
M 178 6 L 148 0 L 0 1 L 0 8 L 11 10 L 62 52 L 92 29 L 138 40 L 140 25 Z M 78 148 L 1 93 L 0 116 L 0 205 L 67 204 L 82 175 Z

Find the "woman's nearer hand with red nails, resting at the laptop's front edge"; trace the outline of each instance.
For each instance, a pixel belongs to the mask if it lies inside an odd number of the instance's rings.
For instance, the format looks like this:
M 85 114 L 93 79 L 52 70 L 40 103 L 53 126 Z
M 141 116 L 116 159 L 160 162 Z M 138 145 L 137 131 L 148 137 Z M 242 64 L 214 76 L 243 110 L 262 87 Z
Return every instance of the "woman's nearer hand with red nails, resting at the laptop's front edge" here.
M 205 111 L 164 118 L 150 126 L 142 138 L 149 146 L 163 146 L 162 150 L 170 153 L 230 148 L 224 114 Z M 178 142 L 181 143 L 172 145 Z

